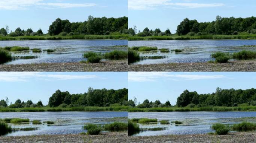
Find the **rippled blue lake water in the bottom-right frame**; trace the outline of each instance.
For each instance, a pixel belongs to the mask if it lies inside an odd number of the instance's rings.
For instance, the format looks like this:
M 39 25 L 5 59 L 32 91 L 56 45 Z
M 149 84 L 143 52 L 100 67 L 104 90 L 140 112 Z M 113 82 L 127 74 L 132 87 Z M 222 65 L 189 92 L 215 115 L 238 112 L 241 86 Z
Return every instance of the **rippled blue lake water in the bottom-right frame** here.
M 256 112 L 130 112 L 128 118 L 157 118 L 169 120 L 170 124 L 139 124 L 140 128 L 165 127 L 162 131 L 143 131 L 133 136 L 153 136 L 163 134 L 205 134 L 211 131 L 213 123 L 236 124 L 242 121 L 256 123 Z M 175 125 L 171 121 L 182 121 L 180 125 Z

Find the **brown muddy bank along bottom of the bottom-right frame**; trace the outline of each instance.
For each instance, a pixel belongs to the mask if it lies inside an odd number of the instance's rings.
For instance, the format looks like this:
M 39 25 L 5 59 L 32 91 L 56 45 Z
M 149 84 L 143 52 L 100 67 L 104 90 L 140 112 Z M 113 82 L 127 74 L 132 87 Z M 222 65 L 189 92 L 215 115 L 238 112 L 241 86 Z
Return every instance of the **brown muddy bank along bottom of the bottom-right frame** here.
M 255 143 L 256 132 L 129 137 L 129 143 Z

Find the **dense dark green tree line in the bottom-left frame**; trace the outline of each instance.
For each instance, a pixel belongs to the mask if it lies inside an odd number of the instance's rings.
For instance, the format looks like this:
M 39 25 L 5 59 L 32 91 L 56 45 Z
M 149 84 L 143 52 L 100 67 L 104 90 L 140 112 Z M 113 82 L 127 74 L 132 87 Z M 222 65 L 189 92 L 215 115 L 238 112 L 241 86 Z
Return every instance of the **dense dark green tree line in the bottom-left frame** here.
M 127 106 L 128 89 L 93 89 L 89 88 L 87 93 L 70 94 L 68 91 L 57 90 L 49 98 L 46 107 L 84 107 L 84 106 Z M 9 99 L 0 101 L 0 107 L 24 108 L 24 107 L 44 107 L 41 101 L 34 104 L 31 100 L 27 102 L 16 100 L 14 104 L 8 105 Z

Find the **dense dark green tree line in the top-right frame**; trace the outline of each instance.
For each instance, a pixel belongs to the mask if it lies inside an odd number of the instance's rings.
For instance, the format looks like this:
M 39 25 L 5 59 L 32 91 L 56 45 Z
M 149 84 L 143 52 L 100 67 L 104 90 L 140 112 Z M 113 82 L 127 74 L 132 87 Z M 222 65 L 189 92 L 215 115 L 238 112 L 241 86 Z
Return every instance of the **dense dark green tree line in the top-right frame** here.
M 129 28 L 130 34 L 135 35 L 136 28 Z M 180 25 L 177 26 L 176 35 L 247 35 L 256 34 L 256 18 L 222 18 L 216 17 L 212 22 L 198 22 L 197 20 L 189 20 L 185 18 Z M 159 28 L 149 30 L 145 28 L 142 32 L 138 32 L 137 36 L 169 36 L 169 29 L 161 31 Z

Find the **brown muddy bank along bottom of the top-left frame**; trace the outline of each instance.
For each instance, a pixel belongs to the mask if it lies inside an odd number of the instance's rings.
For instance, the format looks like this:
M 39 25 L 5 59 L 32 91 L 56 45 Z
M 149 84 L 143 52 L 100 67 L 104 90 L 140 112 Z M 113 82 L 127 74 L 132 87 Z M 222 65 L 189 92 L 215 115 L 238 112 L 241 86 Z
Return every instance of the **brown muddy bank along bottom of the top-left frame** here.
M 0 64 L 0 71 L 128 71 L 127 60 L 109 60 L 97 64 L 41 63 Z

